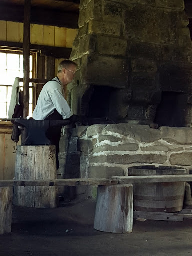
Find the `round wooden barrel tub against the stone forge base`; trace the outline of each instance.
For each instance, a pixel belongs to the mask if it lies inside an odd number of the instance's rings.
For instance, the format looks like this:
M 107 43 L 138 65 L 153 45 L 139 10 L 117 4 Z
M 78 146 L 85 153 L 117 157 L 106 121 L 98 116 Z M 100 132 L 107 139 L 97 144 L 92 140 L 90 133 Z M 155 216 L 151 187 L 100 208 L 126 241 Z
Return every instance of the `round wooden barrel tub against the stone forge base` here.
M 179 175 L 188 170 L 173 166 L 153 165 L 128 168 L 129 176 L 142 175 Z M 186 182 L 134 184 L 134 210 L 152 212 L 176 212 L 183 207 Z

